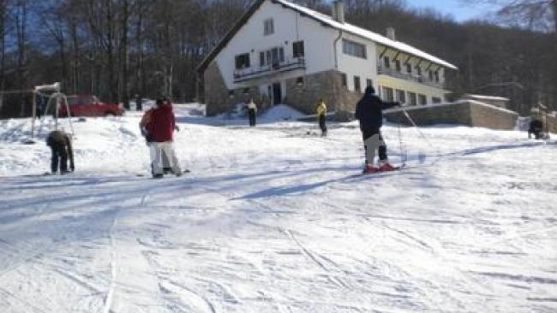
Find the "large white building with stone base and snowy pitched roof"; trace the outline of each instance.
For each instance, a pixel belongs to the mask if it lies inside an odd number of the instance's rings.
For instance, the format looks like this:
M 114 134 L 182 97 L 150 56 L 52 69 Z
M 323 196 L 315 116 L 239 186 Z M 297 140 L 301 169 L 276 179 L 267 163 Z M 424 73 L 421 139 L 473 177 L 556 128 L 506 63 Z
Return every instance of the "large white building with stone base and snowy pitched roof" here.
M 331 15 L 285 0 L 258 0 L 198 67 L 202 98 L 214 115 L 253 97 L 311 113 L 322 98 L 331 111 L 353 111 L 368 85 L 409 105 L 444 100 L 454 65 L 345 22 L 343 2 Z

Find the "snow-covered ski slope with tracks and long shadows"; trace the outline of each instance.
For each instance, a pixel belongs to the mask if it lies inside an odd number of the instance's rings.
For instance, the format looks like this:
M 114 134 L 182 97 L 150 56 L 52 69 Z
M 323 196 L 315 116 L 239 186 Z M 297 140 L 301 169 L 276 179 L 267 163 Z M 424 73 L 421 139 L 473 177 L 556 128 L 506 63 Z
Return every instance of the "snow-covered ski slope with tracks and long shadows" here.
M 190 109 L 191 173 L 161 180 L 136 175 L 139 115 L 75 120 L 65 177 L 19 143 L 29 120 L 0 121 L 0 312 L 557 311 L 554 142 L 386 126 L 409 168 L 363 177 L 356 123 L 320 138 Z

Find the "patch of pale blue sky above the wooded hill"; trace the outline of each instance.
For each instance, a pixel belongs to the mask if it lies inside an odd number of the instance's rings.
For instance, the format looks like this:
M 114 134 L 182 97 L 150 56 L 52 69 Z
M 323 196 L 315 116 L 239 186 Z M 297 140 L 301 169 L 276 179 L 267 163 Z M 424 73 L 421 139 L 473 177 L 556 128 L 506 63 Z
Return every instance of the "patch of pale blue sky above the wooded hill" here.
M 414 8 L 434 8 L 444 15 L 452 15 L 458 22 L 483 17 L 489 10 L 486 6 L 466 6 L 459 0 L 407 0 L 407 3 Z

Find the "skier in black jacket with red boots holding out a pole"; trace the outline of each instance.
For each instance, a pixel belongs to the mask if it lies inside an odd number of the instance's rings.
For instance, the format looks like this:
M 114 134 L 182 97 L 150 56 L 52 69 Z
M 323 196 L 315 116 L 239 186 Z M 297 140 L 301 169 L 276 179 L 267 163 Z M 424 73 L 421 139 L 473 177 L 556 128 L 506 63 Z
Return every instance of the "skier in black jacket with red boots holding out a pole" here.
M 381 135 L 383 126 L 383 110 L 400 106 L 398 102 L 383 102 L 375 95 L 372 86 L 366 88 L 366 93 L 356 104 L 356 119 L 360 121 L 363 137 L 363 147 L 366 150 L 366 168 L 363 172 L 378 172 L 394 170 L 387 158 L 387 147 Z M 373 166 L 375 150 L 379 150 L 379 168 Z

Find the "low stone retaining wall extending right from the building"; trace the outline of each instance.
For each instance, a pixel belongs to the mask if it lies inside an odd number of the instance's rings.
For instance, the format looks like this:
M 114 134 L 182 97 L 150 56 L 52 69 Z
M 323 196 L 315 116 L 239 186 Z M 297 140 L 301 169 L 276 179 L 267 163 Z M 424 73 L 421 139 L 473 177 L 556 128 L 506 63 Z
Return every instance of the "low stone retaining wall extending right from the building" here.
M 406 108 L 417 125 L 453 124 L 491 129 L 514 129 L 518 114 L 473 102 Z M 386 120 L 411 125 L 400 110 L 385 113 Z

